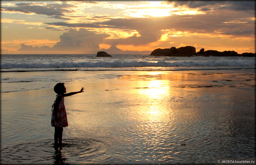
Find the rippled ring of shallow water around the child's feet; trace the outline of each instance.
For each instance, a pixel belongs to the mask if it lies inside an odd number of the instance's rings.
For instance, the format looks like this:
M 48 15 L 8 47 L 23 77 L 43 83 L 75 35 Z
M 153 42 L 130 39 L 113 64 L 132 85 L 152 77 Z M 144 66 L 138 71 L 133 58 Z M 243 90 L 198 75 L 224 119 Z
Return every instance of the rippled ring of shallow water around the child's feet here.
M 63 139 L 62 148 L 57 150 L 54 149 L 54 142 L 49 139 L 22 143 L 2 149 L 1 164 L 95 163 L 96 158 L 104 154 L 106 145 L 103 141 L 90 138 Z

